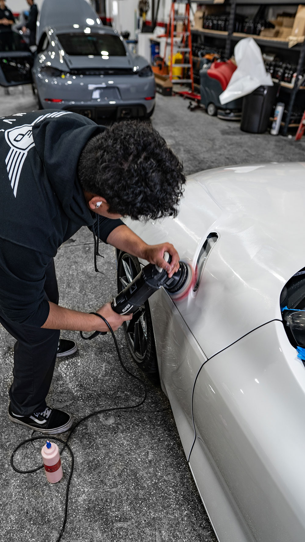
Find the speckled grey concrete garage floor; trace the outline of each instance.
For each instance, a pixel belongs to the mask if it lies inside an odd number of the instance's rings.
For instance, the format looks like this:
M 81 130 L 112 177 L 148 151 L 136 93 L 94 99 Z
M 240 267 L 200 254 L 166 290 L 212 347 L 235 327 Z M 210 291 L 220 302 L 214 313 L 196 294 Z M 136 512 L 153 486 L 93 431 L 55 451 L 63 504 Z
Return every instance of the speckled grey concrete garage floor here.
M 190 112 L 179 96 L 157 96 L 152 124 L 183 160 L 186 173 L 238 163 L 304 160 L 305 140 L 245 134 L 238 124 Z M 16 87 L 4 95 L 0 115 L 35 109 L 31 88 Z M 161 241 L 161 240 L 160 240 Z M 56 256 L 63 306 L 93 311 L 116 293 L 114 249 L 102 244 L 100 274 L 94 272 L 93 240 L 83 228 Z M 74 420 L 90 412 L 140 401 L 142 389 L 121 369 L 111 337 L 85 341 L 56 364 L 48 404 L 66 409 Z M 142 377 L 148 396 L 134 410 L 106 412 L 83 422 L 69 444 L 75 455 L 68 521 L 63 542 L 215 542 L 180 444 L 170 404 L 160 388 L 148 382 L 132 362 L 124 333 L 116 333 L 127 367 Z M 55 542 L 64 512 L 71 460 L 62 454 L 64 478 L 50 485 L 42 470 L 17 474 L 10 455 L 31 431 L 9 422 L 14 339 L 0 326 L 0 539 L 4 542 Z M 38 433 L 34 433 L 38 435 Z M 65 436 L 65 435 L 63 435 Z M 18 450 L 15 464 L 41 464 L 44 441 Z

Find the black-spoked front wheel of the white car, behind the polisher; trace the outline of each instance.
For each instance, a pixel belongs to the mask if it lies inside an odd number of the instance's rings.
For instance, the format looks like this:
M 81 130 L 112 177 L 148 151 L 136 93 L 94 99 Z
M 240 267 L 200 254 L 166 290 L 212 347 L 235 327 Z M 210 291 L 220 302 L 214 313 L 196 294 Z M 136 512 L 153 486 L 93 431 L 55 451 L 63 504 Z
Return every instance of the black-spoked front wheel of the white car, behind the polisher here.
M 118 293 L 140 273 L 139 260 L 121 251 L 118 257 Z M 148 301 L 134 314 L 132 320 L 124 322 L 124 333 L 131 355 L 137 365 L 147 373 L 154 383 L 159 382 L 157 353 L 155 351 L 152 317 Z

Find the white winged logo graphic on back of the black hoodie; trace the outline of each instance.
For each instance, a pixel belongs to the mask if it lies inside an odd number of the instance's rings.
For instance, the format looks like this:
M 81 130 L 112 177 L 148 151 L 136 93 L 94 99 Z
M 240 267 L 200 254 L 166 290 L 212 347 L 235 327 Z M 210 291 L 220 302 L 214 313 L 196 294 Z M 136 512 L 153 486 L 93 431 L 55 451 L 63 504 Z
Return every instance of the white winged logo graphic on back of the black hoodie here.
M 27 158 L 28 151 L 35 146 L 32 133 L 34 124 L 43 119 L 58 118 L 69 113 L 71 112 L 59 111 L 56 113 L 40 115 L 40 117 L 37 117 L 32 124 L 23 124 L 22 126 L 16 126 L 15 128 L 5 130 L 5 140 L 10 146 L 8 156 L 5 159 L 5 164 L 7 164 L 7 171 L 15 197 L 24 160 Z

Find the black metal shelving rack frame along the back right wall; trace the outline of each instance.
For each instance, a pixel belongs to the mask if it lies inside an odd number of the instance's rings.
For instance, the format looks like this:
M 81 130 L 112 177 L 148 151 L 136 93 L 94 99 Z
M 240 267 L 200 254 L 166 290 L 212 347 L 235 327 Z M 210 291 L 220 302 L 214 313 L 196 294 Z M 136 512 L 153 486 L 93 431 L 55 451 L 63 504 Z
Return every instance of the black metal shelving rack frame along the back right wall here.
M 288 41 L 282 41 L 278 40 L 277 38 L 265 38 L 265 37 L 259 37 L 252 34 L 239 34 L 239 33 L 233 33 L 234 28 L 234 22 L 235 22 L 235 16 L 236 16 L 236 8 L 238 5 L 265 5 L 265 6 L 272 6 L 272 5 L 298 5 L 303 4 L 305 5 L 305 0 L 298 0 L 297 2 L 289 2 L 289 0 L 225 0 L 223 4 L 215 3 L 214 0 L 204 0 L 203 2 L 206 5 L 218 5 L 221 6 L 228 6 L 230 5 L 230 15 L 229 15 L 229 25 L 228 25 L 228 31 L 220 31 L 220 30 L 206 30 L 206 29 L 192 29 L 192 34 L 203 34 L 205 36 L 210 37 L 217 37 L 220 39 L 225 40 L 225 56 L 226 58 L 230 57 L 231 54 L 231 48 L 232 48 L 232 42 L 238 42 L 239 40 L 242 40 L 243 37 L 252 37 L 255 39 L 255 41 L 258 43 L 258 45 L 262 46 L 270 46 L 275 47 L 278 49 L 286 49 L 288 48 Z M 300 55 L 298 56 L 298 64 L 297 64 L 297 71 L 296 71 L 296 81 L 298 81 L 298 76 L 301 74 L 301 70 L 304 65 L 305 61 L 305 41 L 303 43 L 295 45 L 291 50 L 298 51 Z M 288 87 L 287 87 L 288 88 Z M 282 130 L 283 135 L 287 135 L 289 123 L 290 123 L 290 117 L 291 113 L 293 111 L 294 102 L 296 99 L 296 94 L 299 90 L 298 86 L 295 84 L 291 88 L 291 94 L 290 94 L 290 100 L 288 104 L 288 110 L 287 110 L 287 117 L 285 120 L 285 125 Z

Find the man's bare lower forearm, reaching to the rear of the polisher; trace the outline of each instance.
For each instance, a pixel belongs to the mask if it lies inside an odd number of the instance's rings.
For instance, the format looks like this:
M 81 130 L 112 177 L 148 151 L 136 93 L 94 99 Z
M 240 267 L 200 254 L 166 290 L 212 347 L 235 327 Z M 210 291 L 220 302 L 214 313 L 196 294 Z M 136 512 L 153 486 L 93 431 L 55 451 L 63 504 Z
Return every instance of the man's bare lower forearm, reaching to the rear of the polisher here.
M 101 319 L 95 314 L 72 311 L 50 301 L 49 305 L 50 312 L 47 320 L 41 326 L 43 328 L 48 330 L 95 331 L 99 330 L 101 326 Z M 106 324 L 105 331 L 108 331 Z

